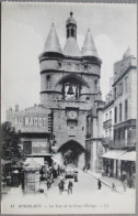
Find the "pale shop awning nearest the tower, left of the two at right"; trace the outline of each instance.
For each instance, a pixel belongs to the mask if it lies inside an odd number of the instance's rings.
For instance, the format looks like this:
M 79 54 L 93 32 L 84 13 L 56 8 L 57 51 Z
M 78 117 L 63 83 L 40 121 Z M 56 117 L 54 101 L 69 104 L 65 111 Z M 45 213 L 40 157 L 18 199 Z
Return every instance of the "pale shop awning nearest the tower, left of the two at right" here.
M 104 153 L 103 155 L 101 155 L 102 158 L 106 158 L 106 159 L 116 159 L 116 160 L 120 160 L 120 156 L 125 153 L 126 151 L 123 150 L 112 150 L 112 151 L 107 151 L 106 153 Z

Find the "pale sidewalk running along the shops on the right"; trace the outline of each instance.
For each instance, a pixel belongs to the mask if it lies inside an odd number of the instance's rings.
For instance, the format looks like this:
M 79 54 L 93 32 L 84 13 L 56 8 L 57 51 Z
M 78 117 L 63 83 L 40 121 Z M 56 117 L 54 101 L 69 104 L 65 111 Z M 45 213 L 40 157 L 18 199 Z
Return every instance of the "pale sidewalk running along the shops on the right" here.
M 128 195 L 128 196 L 136 195 L 135 188 L 127 187 L 126 191 L 124 191 L 123 182 L 119 180 L 116 180 L 115 177 L 102 176 L 101 173 L 95 173 L 93 171 L 84 171 L 84 172 L 87 172 L 88 174 L 92 175 L 95 179 L 100 179 L 103 184 L 107 185 L 111 188 L 112 188 L 112 184 L 114 183 L 116 186 L 116 192 L 119 194 L 124 194 L 124 195 Z

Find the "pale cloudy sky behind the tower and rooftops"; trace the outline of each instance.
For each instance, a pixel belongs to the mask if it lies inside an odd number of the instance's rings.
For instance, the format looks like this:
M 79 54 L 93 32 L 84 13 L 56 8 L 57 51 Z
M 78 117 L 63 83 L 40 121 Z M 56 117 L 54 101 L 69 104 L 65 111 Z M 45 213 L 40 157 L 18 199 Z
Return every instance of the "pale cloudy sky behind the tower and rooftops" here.
M 66 20 L 70 11 L 78 25 L 81 50 L 90 29 L 102 60 L 101 90 L 110 91 L 114 63 L 129 46 L 137 56 L 137 7 L 125 3 L 36 3 L 2 2 L 1 24 L 1 120 L 5 110 L 39 104 L 41 76 L 38 55 L 51 24 L 55 23 L 61 47 L 66 43 Z

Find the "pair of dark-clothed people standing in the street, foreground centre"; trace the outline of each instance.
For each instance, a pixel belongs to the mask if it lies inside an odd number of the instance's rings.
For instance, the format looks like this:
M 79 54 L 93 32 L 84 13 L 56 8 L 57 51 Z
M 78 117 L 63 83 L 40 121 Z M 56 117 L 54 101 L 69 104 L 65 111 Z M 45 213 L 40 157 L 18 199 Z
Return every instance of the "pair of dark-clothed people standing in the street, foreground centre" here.
M 68 188 L 66 188 L 66 185 L 68 186 Z M 72 184 L 71 180 L 69 180 L 69 182 L 67 184 L 67 182 L 65 182 L 65 180 L 61 179 L 58 184 L 58 187 L 59 187 L 59 194 L 61 194 L 64 191 L 68 191 L 68 194 L 72 194 L 73 184 Z

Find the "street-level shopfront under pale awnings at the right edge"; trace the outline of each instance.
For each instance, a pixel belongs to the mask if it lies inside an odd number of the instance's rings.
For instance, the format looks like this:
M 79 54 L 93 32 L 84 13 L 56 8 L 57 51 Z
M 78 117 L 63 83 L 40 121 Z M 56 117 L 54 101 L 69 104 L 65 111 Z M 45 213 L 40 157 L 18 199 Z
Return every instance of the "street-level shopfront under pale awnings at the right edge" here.
M 127 180 L 129 187 L 135 187 L 136 151 L 112 150 L 102 155 L 106 176 Z

